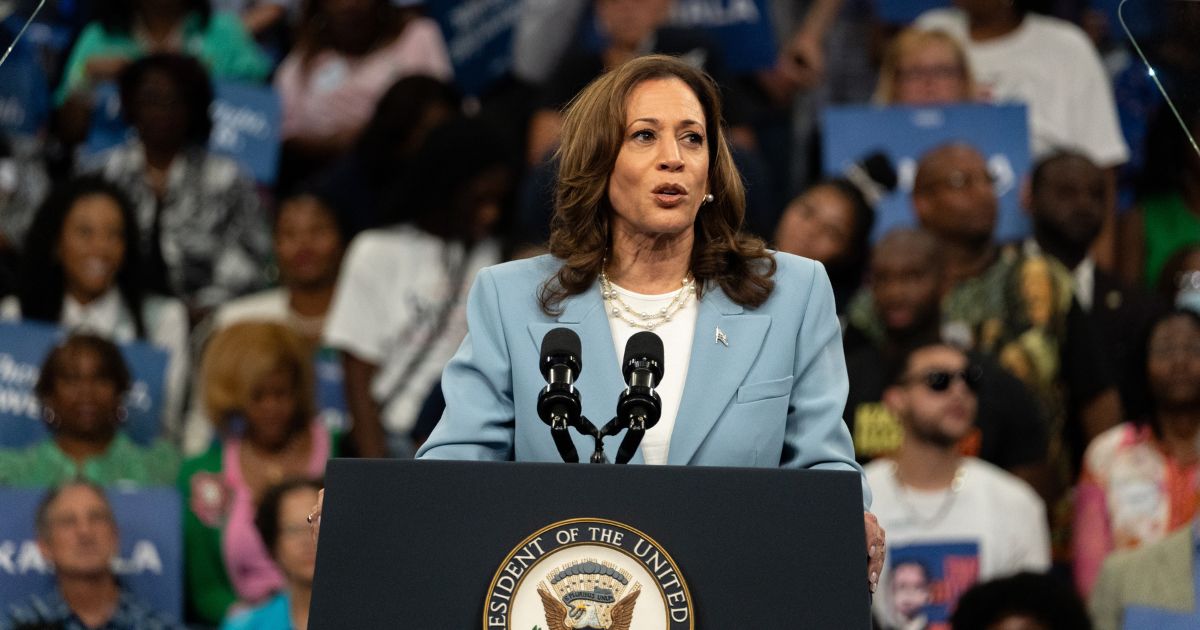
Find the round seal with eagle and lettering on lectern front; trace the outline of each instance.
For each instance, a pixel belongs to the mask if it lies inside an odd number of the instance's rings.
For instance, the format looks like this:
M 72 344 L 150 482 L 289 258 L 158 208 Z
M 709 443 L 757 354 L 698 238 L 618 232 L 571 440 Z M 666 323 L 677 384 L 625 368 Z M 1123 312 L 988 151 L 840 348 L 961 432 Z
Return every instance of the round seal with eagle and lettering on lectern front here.
M 688 584 L 646 534 L 602 518 L 546 527 L 504 559 L 485 630 L 691 630 Z

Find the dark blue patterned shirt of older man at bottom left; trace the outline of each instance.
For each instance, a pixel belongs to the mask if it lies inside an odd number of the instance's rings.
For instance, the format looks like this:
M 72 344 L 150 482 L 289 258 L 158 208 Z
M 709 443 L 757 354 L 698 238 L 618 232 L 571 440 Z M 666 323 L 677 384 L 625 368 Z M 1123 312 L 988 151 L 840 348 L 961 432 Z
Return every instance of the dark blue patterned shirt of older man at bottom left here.
M 184 626 L 151 611 L 132 594 L 121 590 L 116 600 L 116 612 L 104 625 L 91 626 L 83 623 L 58 589 L 44 595 L 30 595 L 22 602 L 12 604 L 0 617 L 0 630 L 22 628 L 55 628 L 60 630 L 184 630 Z

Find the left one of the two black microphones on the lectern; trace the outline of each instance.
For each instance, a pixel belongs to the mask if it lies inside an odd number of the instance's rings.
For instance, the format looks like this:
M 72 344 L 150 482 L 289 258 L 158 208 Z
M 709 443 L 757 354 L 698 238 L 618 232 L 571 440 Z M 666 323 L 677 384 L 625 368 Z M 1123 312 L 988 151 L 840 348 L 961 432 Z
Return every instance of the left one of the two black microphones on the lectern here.
M 550 425 L 551 436 L 563 461 L 576 463 L 580 455 L 575 450 L 568 430 L 578 426 L 583 404 L 575 380 L 583 370 L 580 336 L 568 328 L 556 328 L 541 340 L 539 367 L 546 386 L 538 395 L 538 416 Z

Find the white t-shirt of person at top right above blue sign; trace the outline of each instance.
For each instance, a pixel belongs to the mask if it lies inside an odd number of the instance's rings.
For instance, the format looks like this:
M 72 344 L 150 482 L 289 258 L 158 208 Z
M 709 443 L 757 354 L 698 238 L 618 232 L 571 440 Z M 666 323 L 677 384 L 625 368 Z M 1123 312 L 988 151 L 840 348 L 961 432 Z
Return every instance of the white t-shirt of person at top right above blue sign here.
M 938 8 L 917 18 L 917 26 L 962 43 L 985 100 L 1028 106 L 1034 158 L 1056 149 L 1080 151 L 1102 167 L 1129 158 L 1100 55 L 1074 24 L 1027 13 L 1004 37 L 974 42 L 961 10 Z

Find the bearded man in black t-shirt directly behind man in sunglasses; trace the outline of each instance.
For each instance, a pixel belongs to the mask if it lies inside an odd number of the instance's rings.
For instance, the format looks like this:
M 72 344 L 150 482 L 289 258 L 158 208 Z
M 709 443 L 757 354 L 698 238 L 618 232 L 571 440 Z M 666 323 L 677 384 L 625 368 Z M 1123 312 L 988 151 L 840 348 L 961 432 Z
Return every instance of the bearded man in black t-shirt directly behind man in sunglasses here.
M 937 240 L 928 232 L 896 229 L 875 246 L 868 282 L 880 325 L 864 329 L 852 323 L 844 340 L 850 374 L 844 418 L 859 462 L 893 452 L 904 434 L 899 419 L 881 402 L 888 386 L 887 361 L 920 344 L 961 337 L 941 326 L 942 278 Z M 1044 412 L 1028 389 L 995 360 L 976 353 L 970 359 L 979 367 L 979 413 L 960 451 L 1042 487 L 1048 431 Z

